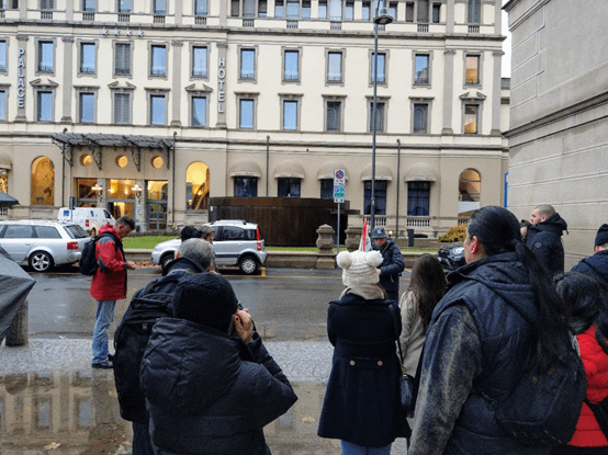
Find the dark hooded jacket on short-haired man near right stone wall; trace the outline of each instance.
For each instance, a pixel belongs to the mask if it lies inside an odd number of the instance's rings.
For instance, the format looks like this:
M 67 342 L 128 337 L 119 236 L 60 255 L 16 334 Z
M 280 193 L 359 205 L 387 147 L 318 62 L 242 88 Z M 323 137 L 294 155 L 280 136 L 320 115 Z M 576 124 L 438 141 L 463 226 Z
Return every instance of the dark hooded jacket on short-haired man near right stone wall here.
M 551 276 L 564 273 L 564 246 L 562 244 L 564 230 L 567 232 L 567 224 L 560 214 L 553 214 L 542 223 L 528 226 L 526 244 Z

